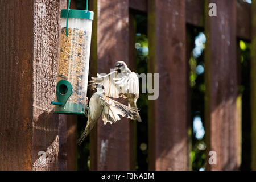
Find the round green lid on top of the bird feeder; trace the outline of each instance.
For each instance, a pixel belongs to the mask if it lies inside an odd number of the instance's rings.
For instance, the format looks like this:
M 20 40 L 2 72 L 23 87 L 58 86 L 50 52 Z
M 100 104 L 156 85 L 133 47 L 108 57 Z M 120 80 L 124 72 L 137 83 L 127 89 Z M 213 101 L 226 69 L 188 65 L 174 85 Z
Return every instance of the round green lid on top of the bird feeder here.
M 72 10 L 63 9 L 61 10 L 60 18 L 84 18 L 93 20 L 93 11 L 88 10 Z

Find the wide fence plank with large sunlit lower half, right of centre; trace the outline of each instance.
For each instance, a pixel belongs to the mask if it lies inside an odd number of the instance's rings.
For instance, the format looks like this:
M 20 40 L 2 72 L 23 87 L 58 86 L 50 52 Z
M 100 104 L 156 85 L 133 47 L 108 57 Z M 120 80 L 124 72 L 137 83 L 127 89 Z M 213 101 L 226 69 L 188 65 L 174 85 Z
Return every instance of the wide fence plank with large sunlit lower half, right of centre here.
M 209 3 L 216 3 L 217 17 L 208 16 Z M 206 1 L 205 32 L 205 133 L 207 169 L 234 170 L 240 167 L 241 145 L 237 139 L 236 1 Z M 217 164 L 209 164 L 215 151 Z

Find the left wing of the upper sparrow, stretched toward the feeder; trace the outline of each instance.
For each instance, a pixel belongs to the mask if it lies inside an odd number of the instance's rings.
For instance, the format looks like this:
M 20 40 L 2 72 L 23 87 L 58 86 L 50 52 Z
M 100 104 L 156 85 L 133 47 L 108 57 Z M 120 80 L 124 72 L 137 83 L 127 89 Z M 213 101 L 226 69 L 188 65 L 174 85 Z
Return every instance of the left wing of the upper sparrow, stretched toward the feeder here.
M 118 98 L 122 92 L 121 89 L 115 85 L 114 78 L 117 76 L 117 71 L 110 72 L 107 75 L 100 75 L 97 73 L 97 77 L 92 77 L 91 83 L 100 83 L 105 87 L 105 94 L 108 97 Z

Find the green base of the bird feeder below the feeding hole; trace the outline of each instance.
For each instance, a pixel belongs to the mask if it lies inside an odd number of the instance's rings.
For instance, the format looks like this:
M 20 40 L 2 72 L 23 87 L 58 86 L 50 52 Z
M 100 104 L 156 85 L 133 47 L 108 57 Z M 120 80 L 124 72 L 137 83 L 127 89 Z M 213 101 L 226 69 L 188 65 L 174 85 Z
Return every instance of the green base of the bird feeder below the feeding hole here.
M 64 107 L 55 105 L 54 113 L 56 114 L 82 114 L 85 115 L 85 105 L 67 102 Z

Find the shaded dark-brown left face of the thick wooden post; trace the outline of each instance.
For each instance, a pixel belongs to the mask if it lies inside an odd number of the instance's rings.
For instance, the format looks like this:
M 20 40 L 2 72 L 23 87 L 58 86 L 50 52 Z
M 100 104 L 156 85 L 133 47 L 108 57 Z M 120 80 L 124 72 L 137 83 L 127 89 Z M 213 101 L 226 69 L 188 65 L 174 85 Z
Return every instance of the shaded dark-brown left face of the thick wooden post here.
M 0 10 L 0 169 L 30 170 L 33 3 L 1 0 Z

